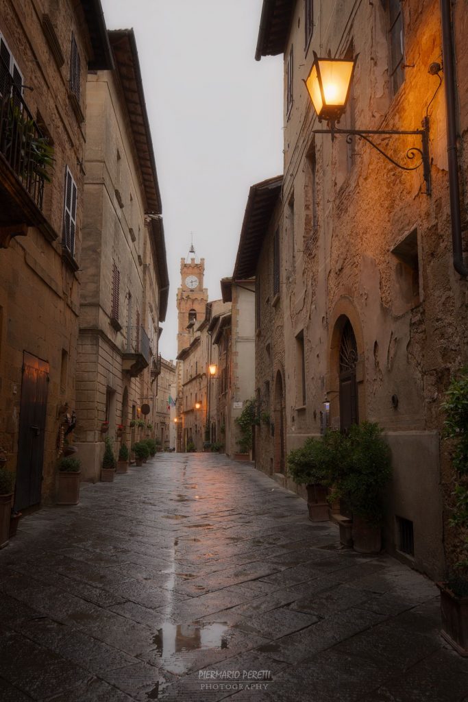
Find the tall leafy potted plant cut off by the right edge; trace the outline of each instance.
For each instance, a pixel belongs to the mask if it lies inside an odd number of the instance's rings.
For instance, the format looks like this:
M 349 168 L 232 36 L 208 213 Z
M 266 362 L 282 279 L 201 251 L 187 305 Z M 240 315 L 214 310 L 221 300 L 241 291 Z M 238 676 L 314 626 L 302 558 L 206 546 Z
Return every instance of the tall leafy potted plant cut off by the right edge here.
M 442 409 L 454 470 L 449 526 L 455 536 L 448 578 L 438 583 L 442 636 L 461 656 L 468 656 L 468 369 L 451 380 Z

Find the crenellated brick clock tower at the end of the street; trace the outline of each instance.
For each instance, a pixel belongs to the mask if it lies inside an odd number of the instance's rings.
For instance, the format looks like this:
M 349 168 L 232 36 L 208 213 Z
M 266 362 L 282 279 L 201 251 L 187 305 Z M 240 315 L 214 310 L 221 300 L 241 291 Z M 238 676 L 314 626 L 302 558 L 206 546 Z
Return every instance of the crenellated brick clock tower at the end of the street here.
M 189 346 L 191 329 L 205 319 L 208 290 L 203 288 L 205 259 L 198 258 L 194 245 L 190 246 L 187 259 L 180 259 L 181 286 L 177 291 L 179 329 L 177 352 Z

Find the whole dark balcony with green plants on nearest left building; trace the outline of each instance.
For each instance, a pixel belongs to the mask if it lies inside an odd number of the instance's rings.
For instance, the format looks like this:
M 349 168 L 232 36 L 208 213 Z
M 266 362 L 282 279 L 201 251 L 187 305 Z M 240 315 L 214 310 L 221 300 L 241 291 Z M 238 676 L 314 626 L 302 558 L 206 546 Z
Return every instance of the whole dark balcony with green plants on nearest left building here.
M 36 226 L 56 234 L 41 212 L 53 150 L 8 72 L 0 71 L 0 246 Z

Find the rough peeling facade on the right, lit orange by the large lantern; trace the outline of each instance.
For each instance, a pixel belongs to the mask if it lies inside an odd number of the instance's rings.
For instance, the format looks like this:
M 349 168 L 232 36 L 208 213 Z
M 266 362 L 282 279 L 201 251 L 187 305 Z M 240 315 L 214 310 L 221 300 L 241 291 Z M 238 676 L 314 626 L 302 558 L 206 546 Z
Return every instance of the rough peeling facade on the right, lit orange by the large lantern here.
M 265 1 L 256 55 L 284 56 L 277 304 L 284 310 L 286 451 L 323 430 L 326 399 L 333 428 L 379 422 L 393 457 L 387 549 L 432 577 L 444 569 L 443 491 L 450 491 L 440 403 L 468 354 L 467 282 L 454 268 L 451 241 L 457 222 L 450 211 L 448 98 L 444 85 L 438 90 L 439 76 L 447 80 L 439 71 L 445 5 Z M 453 39 L 458 156 L 466 176 L 463 6 L 455 3 Z M 399 170 L 356 137 L 347 143 L 341 135 L 332 141 L 314 133 L 325 125 L 316 120 L 303 82 L 312 51 L 337 58 L 359 53 L 342 128 L 415 130 L 428 117 L 430 193 L 422 168 Z M 421 146 L 418 139 L 376 141 L 401 162 L 410 147 Z M 466 240 L 458 244 L 466 248 Z M 457 268 L 463 272 L 460 261 Z M 410 534 L 406 545 L 403 531 Z

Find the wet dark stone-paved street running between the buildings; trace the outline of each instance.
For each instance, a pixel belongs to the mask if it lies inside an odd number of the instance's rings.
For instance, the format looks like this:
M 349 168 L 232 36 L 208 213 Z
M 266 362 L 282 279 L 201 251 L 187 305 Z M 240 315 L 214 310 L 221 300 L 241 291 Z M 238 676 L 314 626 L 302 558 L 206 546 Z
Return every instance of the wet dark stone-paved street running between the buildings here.
M 468 702 L 434 584 L 250 465 L 159 454 L 0 551 L 0 700 Z

